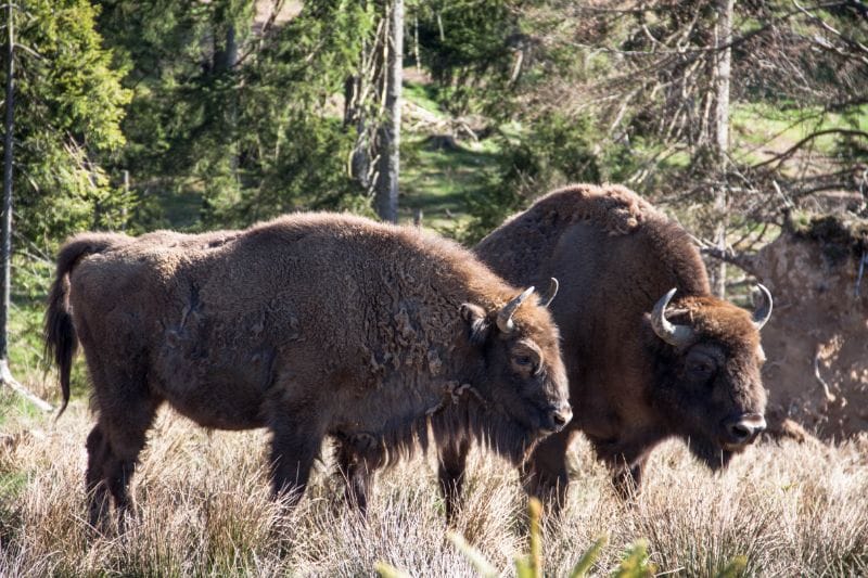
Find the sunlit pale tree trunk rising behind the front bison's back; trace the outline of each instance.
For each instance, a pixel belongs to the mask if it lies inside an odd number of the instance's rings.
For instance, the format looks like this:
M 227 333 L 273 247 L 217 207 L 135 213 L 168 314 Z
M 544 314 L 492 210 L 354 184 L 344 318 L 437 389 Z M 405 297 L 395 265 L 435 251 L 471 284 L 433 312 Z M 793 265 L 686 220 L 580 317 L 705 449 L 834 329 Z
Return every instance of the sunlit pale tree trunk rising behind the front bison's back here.
M 400 162 L 400 93 L 404 61 L 404 0 L 392 0 L 386 35 L 386 111 L 378 131 L 379 170 L 374 184 L 374 206 L 384 221 L 398 221 L 398 172 Z

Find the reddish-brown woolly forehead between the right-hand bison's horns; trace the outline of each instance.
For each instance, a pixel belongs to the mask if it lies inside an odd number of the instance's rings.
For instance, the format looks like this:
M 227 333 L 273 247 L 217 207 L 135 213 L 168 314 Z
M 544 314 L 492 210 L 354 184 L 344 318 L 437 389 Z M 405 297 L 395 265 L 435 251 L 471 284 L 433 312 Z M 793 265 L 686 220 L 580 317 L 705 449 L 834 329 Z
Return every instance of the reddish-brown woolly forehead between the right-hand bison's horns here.
M 719 341 L 730 349 L 760 351 L 760 332 L 751 313 L 723 299 L 687 297 L 669 320 L 689 324 L 702 337 Z

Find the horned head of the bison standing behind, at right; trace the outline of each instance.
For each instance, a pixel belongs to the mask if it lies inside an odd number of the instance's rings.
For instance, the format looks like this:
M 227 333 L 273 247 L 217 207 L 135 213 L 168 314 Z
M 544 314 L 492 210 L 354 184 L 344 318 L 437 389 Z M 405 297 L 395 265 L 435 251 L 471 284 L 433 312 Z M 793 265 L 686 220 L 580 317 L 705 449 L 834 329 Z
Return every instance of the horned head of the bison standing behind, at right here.
M 712 470 L 727 465 L 766 426 L 760 330 L 771 314 L 771 295 L 758 288 L 762 303 L 753 314 L 710 296 L 685 297 L 667 311 L 672 290 L 649 319 L 666 344 L 656 357 L 652 403 Z

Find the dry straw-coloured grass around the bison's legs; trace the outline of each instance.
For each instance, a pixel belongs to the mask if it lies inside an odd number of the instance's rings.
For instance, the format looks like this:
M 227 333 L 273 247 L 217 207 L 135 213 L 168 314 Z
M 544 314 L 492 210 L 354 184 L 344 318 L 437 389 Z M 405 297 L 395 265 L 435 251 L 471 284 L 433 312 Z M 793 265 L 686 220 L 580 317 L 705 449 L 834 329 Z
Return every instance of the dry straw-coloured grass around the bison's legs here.
M 90 416 L 79 403 L 56 425 L 23 423 L 0 448 L 0 576 L 358 576 L 378 561 L 412 576 L 473 574 L 446 539 L 434 470 L 422 460 L 380 477 L 367 524 L 333 498 L 329 460 L 301 505 L 282 510 L 269 499 L 265 433 L 208 434 L 165 412 L 133 484 L 140 518 L 125 536 L 103 537 L 82 519 Z M 868 440 L 764 444 L 713 476 L 673 442 L 653 455 L 644 493 L 629 505 L 579 442 L 569 506 L 545 521 L 546 574 L 566 574 L 609 535 L 595 574 L 647 538 L 658 570 L 673 575 L 714 576 L 740 554 L 750 575 L 866 575 L 867 453 Z M 457 529 L 511 571 L 527 551 L 515 473 L 476 454 L 468 490 Z

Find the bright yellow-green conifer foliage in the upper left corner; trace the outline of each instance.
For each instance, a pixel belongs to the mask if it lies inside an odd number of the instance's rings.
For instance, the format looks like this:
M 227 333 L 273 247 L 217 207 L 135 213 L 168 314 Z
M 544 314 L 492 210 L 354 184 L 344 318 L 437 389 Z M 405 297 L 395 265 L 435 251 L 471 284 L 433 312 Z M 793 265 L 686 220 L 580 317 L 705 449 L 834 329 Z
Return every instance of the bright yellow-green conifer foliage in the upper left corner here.
M 124 144 L 130 92 L 95 30 L 87 0 L 38 0 L 15 12 L 15 228 L 47 244 L 82 228 L 117 226 L 129 196 L 100 159 Z

